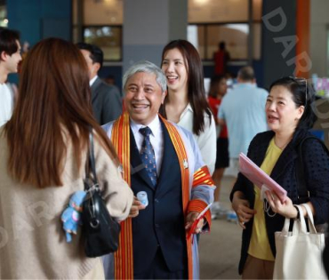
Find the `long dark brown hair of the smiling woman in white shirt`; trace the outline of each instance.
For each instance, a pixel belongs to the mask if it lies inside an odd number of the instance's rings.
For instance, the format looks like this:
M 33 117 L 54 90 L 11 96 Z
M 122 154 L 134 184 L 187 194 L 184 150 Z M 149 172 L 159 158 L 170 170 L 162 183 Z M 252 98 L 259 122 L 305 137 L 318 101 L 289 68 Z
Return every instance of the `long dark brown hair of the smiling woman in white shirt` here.
M 209 108 L 205 97 L 204 68 L 197 49 L 186 40 L 174 40 L 164 46 L 162 52 L 161 64 L 164 61 L 164 55 L 169 50 L 178 49 L 188 63 L 188 100 L 193 109 L 193 133 L 200 135 L 205 131 L 205 114 L 212 122 L 212 111 Z M 166 118 L 165 104 L 160 108 L 160 114 Z

